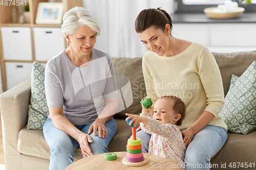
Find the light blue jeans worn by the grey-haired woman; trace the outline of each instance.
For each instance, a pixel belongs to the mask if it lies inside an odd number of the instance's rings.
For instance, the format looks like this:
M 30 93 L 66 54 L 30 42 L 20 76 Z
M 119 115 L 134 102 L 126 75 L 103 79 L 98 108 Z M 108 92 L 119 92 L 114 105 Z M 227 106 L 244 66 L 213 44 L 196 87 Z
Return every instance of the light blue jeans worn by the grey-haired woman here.
M 92 123 L 75 127 L 87 134 Z M 108 145 L 116 134 L 116 122 L 113 117 L 105 123 L 105 128 L 108 131 L 108 136 L 104 139 L 98 136 L 98 131 L 96 136 L 94 136 L 93 132 L 90 134 L 93 142 L 89 143 L 89 147 L 93 155 L 108 152 Z M 65 169 L 69 164 L 73 163 L 75 149 L 79 143 L 67 133 L 57 129 L 50 118 L 47 118 L 43 131 L 45 139 L 51 148 L 49 170 Z

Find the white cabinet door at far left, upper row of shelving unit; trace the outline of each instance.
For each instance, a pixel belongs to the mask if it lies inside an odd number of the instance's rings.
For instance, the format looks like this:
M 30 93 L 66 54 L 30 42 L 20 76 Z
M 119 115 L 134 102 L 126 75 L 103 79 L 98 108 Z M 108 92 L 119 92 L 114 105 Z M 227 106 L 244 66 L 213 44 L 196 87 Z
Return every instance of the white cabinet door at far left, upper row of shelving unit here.
M 31 29 L 2 27 L 5 60 L 32 60 Z

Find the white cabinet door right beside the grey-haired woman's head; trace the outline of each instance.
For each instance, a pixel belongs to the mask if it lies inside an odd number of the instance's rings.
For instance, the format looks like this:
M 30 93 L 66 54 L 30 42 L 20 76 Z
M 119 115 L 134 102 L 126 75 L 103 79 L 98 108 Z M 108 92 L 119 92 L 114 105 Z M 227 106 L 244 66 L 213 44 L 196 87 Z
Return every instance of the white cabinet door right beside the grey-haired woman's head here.
M 48 61 L 65 48 L 61 28 L 33 28 L 35 60 Z

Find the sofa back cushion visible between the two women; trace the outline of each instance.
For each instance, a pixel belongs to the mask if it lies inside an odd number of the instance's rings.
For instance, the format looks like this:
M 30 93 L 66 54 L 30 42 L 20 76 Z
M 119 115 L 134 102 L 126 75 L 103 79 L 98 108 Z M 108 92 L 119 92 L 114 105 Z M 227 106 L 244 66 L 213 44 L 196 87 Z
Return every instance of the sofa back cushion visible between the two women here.
M 116 76 L 126 76 L 130 79 L 133 103 L 130 107 L 117 113 L 114 117 L 125 118 L 125 113 L 139 114 L 141 113 L 140 101 L 146 96 L 145 83 L 142 73 L 142 58 L 115 58 L 112 57 L 112 62 Z

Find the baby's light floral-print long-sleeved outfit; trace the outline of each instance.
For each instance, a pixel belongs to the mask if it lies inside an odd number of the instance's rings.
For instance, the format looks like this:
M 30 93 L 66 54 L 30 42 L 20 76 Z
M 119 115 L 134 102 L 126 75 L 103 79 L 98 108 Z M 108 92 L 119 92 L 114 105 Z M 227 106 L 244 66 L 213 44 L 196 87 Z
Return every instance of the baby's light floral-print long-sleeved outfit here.
M 164 125 L 151 118 L 149 113 L 141 113 L 140 115 L 147 116 L 149 119 L 147 126 L 140 123 L 141 130 L 151 134 L 148 153 L 174 160 L 177 167 L 185 170 L 186 146 L 179 126 L 173 124 Z

